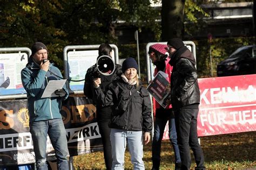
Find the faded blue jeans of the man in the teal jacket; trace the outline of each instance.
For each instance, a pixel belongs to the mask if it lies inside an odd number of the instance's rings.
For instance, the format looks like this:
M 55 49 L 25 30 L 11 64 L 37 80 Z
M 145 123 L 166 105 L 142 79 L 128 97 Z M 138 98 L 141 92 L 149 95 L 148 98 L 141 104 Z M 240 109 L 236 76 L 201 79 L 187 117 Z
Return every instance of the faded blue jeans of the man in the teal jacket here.
M 55 149 L 58 169 L 69 169 L 69 149 L 62 119 L 34 121 L 31 122 L 29 126 L 36 155 L 37 169 L 48 169 L 46 164 L 47 135 L 49 135 L 51 144 Z

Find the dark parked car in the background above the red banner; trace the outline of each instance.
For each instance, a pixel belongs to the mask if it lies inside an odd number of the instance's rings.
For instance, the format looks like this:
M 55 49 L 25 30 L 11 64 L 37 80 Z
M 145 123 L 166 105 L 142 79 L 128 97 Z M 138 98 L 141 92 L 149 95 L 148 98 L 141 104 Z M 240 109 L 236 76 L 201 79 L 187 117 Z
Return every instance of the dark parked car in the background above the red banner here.
M 256 45 L 242 46 L 217 65 L 217 76 L 256 74 Z

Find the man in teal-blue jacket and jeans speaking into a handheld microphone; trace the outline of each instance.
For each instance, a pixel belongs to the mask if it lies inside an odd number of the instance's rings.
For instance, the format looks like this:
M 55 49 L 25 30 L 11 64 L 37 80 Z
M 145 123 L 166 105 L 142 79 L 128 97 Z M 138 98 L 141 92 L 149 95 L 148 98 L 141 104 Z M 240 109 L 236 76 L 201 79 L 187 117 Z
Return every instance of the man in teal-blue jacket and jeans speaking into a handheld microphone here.
M 69 150 L 66 131 L 60 114 L 62 100 L 69 92 L 63 89 L 55 91 L 57 97 L 41 98 L 49 80 L 62 79 L 59 69 L 50 63 L 48 49 L 36 42 L 31 47 L 32 54 L 26 67 L 21 71 L 22 84 L 28 96 L 29 126 L 36 156 L 37 169 L 48 169 L 46 164 L 47 135 L 55 149 L 58 169 L 69 169 Z M 46 61 L 46 62 L 45 62 Z

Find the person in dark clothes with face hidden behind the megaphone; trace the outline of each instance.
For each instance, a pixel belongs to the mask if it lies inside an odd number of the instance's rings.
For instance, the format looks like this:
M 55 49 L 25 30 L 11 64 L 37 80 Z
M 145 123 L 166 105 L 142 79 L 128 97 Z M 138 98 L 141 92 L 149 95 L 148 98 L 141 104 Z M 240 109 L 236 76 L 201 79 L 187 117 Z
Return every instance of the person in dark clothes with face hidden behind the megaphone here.
M 106 169 L 112 167 L 112 147 L 110 143 L 110 132 L 108 124 L 112 116 L 112 106 L 97 105 L 96 98 L 93 96 L 93 81 L 97 78 L 101 79 L 100 89 L 103 92 L 109 90 L 109 84 L 122 75 L 122 66 L 114 64 L 111 53 L 112 47 L 109 44 L 101 44 L 98 49 L 99 56 L 97 63 L 92 65 L 85 74 L 84 94 L 87 98 L 92 99 L 93 104 L 96 104 L 97 123 L 99 133 L 102 136 L 103 152 Z

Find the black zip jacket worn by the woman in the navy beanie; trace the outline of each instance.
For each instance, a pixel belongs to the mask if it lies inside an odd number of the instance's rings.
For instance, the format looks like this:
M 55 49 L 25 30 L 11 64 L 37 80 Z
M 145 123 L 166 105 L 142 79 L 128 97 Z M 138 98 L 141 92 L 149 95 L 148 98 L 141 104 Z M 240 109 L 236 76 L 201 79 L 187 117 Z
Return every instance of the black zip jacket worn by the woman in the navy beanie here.
M 109 127 L 128 131 L 151 132 L 151 101 L 149 92 L 145 87 L 139 86 L 137 89 L 136 85 L 130 86 L 123 79 L 120 79 L 111 84 L 106 96 L 100 88 L 95 89 L 95 93 L 97 94 L 97 101 L 102 106 L 111 105 L 113 109 L 119 100 L 125 100 L 134 93 L 124 113 L 113 111 Z

